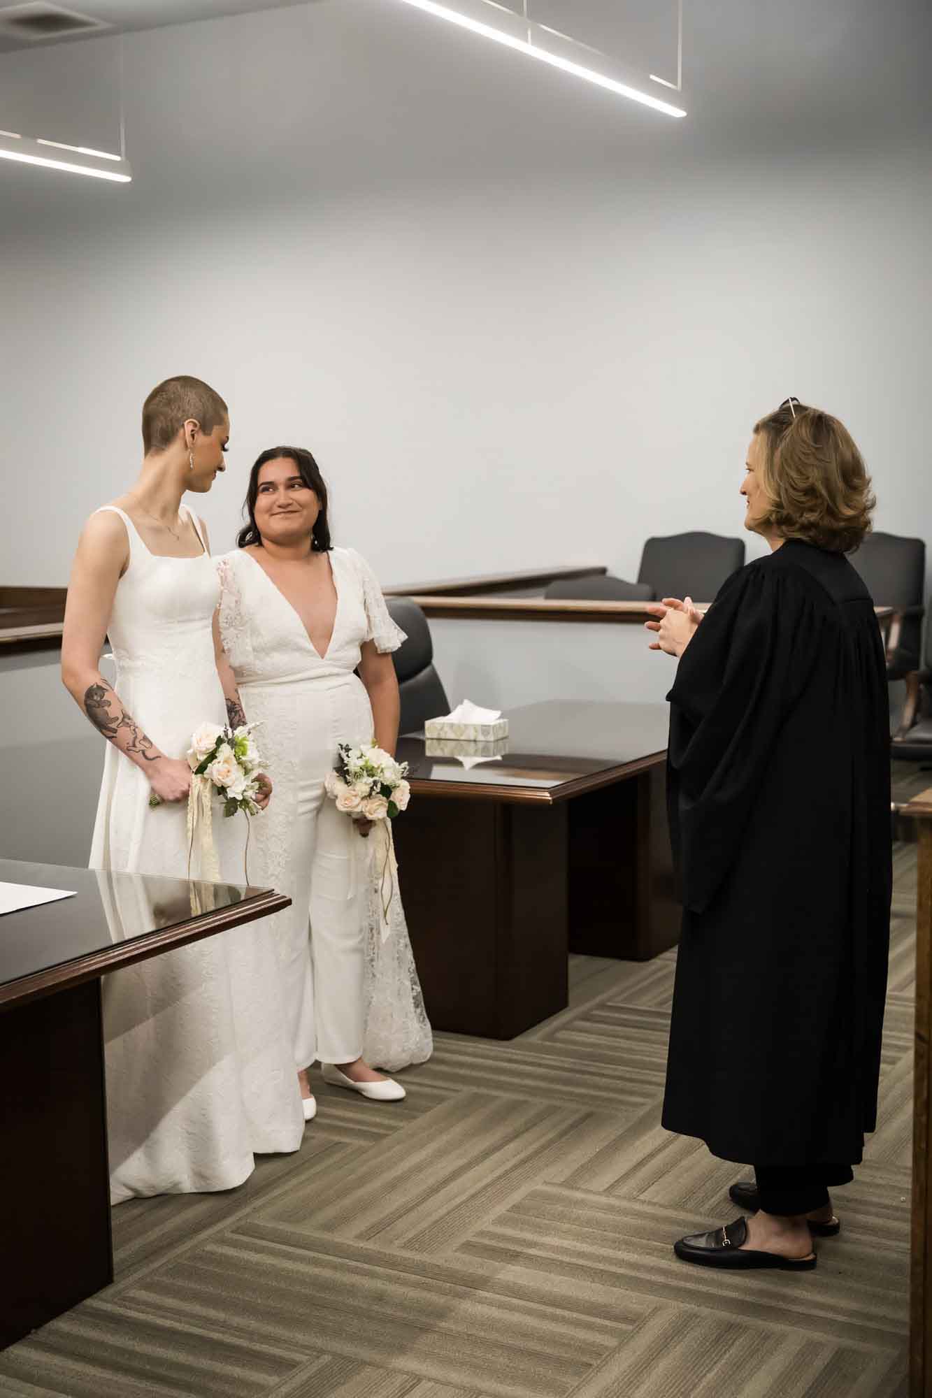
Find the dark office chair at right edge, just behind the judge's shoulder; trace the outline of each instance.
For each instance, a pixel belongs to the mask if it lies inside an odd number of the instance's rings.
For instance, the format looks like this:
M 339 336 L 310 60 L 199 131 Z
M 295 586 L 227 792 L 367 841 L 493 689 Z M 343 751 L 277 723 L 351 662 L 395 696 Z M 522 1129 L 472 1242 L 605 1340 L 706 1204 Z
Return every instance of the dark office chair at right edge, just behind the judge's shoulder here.
M 925 542 L 903 534 L 868 534 L 851 562 L 877 607 L 894 607 L 887 633 L 887 678 L 905 679 L 921 665 Z

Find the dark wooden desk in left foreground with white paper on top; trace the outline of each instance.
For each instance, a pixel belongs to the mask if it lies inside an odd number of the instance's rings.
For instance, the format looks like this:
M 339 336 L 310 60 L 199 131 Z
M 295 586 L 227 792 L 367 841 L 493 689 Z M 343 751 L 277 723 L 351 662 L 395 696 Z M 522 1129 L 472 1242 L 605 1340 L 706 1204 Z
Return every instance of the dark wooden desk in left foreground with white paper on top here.
M 77 893 L 0 917 L 4 1348 L 113 1281 L 101 976 L 291 899 L 13 860 L 0 881 Z

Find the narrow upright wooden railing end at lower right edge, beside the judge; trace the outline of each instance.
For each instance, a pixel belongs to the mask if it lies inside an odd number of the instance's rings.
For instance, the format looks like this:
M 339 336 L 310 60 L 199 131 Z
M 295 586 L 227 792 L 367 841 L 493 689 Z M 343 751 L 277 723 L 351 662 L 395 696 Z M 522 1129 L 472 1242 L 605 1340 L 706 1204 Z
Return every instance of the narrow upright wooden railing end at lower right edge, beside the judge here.
M 932 1392 L 932 788 L 900 814 L 918 828 L 915 1030 L 912 1088 L 912 1226 L 910 1240 L 910 1398 Z

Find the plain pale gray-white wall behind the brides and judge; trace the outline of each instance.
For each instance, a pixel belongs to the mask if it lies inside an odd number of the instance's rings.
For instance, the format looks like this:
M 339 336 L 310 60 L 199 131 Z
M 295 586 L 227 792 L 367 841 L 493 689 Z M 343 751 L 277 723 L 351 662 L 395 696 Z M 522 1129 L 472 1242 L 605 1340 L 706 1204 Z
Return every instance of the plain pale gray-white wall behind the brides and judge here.
M 134 183 L 0 172 L 0 582 L 67 580 L 178 372 L 231 404 L 216 549 L 291 440 L 385 582 L 633 576 L 651 533 L 740 531 L 791 391 L 852 429 L 877 526 L 926 534 L 915 133 L 784 145 L 701 94 L 687 129 L 462 38 L 372 0 L 133 35 Z

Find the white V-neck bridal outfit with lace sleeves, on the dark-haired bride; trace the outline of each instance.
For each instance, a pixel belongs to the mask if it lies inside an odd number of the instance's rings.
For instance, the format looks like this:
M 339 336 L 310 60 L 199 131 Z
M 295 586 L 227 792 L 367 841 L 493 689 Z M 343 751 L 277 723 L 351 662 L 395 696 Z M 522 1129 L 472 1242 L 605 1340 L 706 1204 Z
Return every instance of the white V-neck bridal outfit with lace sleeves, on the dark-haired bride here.
M 326 654 L 245 549 L 217 561 L 220 629 L 246 719 L 274 784 L 257 818 L 249 878 L 291 896 L 273 921 L 294 1064 L 351 1062 L 395 1072 L 424 1062 L 431 1028 L 396 888 L 382 939 L 376 842 L 364 840 L 323 791 L 339 742 L 372 741 L 372 709 L 354 674 L 360 647 L 396 650 L 403 632 L 354 549 L 330 551 L 337 610 Z M 402 815 L 400 819 L 404 819 Z

